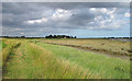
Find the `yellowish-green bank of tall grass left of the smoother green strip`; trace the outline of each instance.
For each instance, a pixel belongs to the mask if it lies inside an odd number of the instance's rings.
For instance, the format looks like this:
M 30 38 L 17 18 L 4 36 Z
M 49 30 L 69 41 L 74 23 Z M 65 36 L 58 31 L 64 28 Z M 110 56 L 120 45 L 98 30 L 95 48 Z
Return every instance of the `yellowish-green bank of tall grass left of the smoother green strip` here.
M 47 49 L 23 43 L 7 66 L 6 79 L 96 79 L 88 69 L 59 59 Z

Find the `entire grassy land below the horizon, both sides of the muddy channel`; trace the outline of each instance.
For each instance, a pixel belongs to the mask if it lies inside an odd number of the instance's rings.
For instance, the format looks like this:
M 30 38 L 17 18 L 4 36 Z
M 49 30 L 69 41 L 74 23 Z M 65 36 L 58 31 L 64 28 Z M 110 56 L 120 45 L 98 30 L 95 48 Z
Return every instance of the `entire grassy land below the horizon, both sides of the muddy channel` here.
M 3 79 L 130 79 L 129 59 L 92 51 L 128 56 L 129 42 L 4 38 L 1 46 Z

